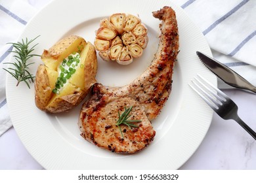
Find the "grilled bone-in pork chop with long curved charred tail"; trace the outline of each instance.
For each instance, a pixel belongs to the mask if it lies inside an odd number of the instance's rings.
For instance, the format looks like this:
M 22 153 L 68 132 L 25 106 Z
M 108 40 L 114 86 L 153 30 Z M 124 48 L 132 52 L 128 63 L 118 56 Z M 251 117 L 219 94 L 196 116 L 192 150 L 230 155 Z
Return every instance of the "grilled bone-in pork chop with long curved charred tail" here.
M 173 66 L 179 52 L 179 34 L 175 12 L 163 7 L 153 12 L 162 20 L 158 51 L 151 65 L 131 84 L 111 88 L 96 83 L 91 98 L 79 115 L 81 136 L 100 148 L 117 153 L 139 152 L 153 141 L 151 121 L 158 116 L 171 92 Z M 128 120 L 137 127 L 116 125 L 119 115 L 133 107 Z

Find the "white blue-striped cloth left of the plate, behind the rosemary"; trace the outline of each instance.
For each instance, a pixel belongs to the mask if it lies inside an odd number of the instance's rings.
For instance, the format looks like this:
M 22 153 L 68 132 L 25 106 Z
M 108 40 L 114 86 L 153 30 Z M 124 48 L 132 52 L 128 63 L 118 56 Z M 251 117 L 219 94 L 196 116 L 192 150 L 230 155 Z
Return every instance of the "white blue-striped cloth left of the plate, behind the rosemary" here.
M 16 42 L 27 22 L 39 10 L 39 7 L 33 7 L 30 3 L 33 1 L 0 1 L 0 136 L 12 126 L 5 96 L 7 73 L 3 70 L 8 66 L 3 63 L 9 62 L 12 50 L 11 44 L 7 42 Z

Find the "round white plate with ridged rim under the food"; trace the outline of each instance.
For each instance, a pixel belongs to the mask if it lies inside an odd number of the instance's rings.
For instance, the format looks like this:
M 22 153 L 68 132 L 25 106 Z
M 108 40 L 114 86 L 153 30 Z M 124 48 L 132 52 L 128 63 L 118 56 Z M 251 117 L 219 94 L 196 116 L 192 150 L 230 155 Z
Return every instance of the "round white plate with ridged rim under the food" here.
M 26 26 L 20 39 L 41 35 L 35 53 L 41 54 L 54 42 L 70 34 L 93 42 L 102 18 L 116 12 L 139 15 L 148 27 L 150 42 L 143 56 L 131 65 L 106 63 L 98 57 L 97 80 L 108 86 L 122 86 L 139 76 L 150 65 L 158 48 L 160 21 L 152 11 L 168 5 L 175 9 L 179 24 L 180 53 L 174 68 L 173 90 L 160 116 L 152 124 L 156 137 L 142 152 L 121 155 L 102 150 L 79 135 L 79 107 L 66 114 L 42 112 L 34 103 L 34 91 L 26 84 L 16 87 L 16 80 L 7 75 L 7 101 L 11 120 L 24 146 L 45 169 L 179 169 L 202 142 L 213 115 L 212 110 L 188 86 L 196 74 L 217 84 L 196 56 L 200 50 L 211 51 L 202 33 L 184 11 L 170 0 L 162 1 L 61 1 L 43 8 Z M 39 58 L 32 65 L 35 74 Z

